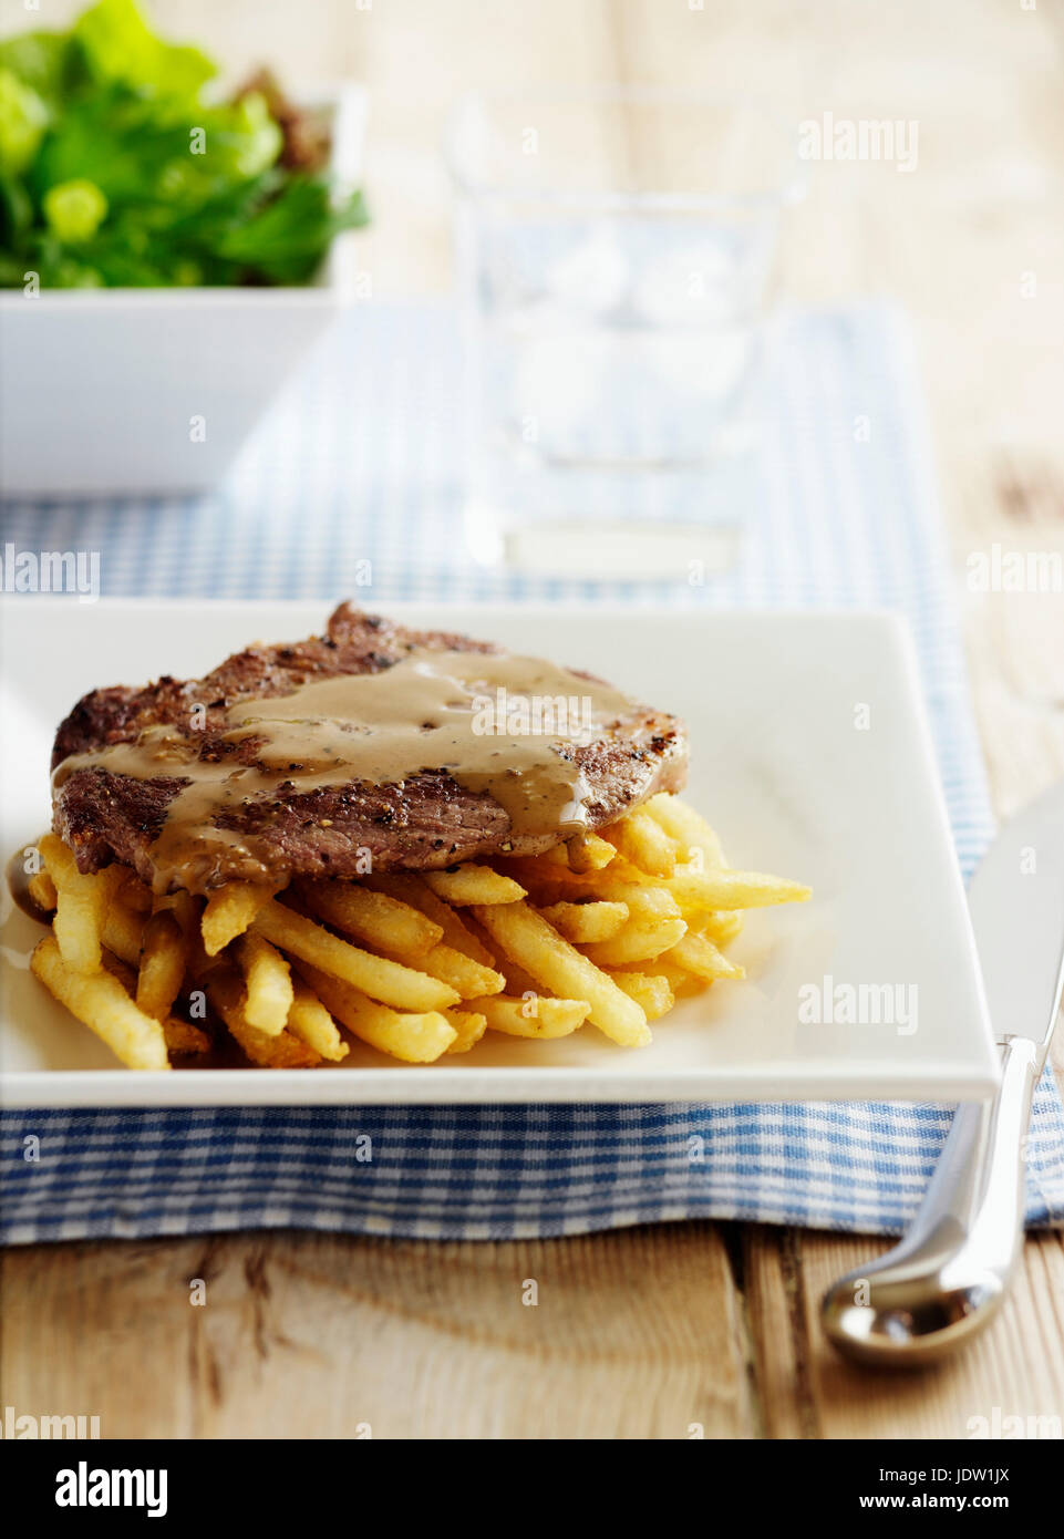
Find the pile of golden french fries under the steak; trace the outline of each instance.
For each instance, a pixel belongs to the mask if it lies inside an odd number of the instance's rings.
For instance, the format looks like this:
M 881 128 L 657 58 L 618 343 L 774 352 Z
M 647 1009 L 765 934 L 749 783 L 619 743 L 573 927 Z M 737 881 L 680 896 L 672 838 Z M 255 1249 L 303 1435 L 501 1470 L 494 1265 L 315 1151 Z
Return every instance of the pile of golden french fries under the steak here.
M 405 1063 L 485 1033 L 564 1037 L 590 1025 L 650 1042 L 676 997 L 744 971 L 724 946 L 742 911 L 807 899 L 731 870 L 710 825 L 656 796 L 534 859 L 359 880 L 231 882 L 152 894 L 125 866 L 77 870 L 46 834 L 29 894 L 51 931 L 31 966 L 129 1068 L 339 1063 L 348 1036 Z M 237 1054 L 237 1060 L 239 1054 Z

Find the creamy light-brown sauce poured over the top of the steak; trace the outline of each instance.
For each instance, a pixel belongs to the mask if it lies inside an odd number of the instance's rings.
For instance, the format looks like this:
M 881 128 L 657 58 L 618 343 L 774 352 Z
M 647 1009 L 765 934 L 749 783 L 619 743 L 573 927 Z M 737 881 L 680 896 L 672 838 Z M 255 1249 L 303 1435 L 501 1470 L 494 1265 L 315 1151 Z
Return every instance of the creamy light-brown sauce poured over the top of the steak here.
M 540 659 L 422 649 L 379 674 L 236 700 L 220 734 L 229 751 L 209 760 L 196 733 L 149 726 L 137 742 L 65 759 L 52 790 L 85 768 L 182 780 L 151 859 L 159 890 L 197 890 L 216 879 L 225 848 L 256 856 L 254 836 L 219 828 L 222 814 L 353 782 L 402 786 L 427 770 L 488 793 L 516 834 L 570 837 L 587 826 L 588 794 L 573 753 L 630 709 L 610 685 Z M 216 743 L 216 728 L 209 736 Z M 254 763 L 234 762 L 245 743 Z M 266 877 L 268 851 L 262 859 Z

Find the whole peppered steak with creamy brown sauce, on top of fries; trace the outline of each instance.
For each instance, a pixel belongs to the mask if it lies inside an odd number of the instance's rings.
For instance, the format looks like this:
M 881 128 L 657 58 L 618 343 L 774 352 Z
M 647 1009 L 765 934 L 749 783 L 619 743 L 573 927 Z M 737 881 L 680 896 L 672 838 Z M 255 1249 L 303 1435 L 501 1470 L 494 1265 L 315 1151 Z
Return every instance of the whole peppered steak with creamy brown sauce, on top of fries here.
M 55 736 L 52 811 L 82 873 L 208 893 L 534 856 L 685 774 L 674 716 L 343 603 L 323 636 L 203 679 L 86 694 Z

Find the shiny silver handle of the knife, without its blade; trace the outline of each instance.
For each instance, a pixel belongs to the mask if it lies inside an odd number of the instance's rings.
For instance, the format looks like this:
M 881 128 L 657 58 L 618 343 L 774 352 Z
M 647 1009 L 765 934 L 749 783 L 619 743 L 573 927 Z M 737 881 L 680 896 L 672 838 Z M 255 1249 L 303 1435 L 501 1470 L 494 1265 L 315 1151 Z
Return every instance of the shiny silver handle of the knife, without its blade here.
M 1009 1037 L 998 1094 L 958 1107 L 905 1237 L 824 1296 L 824 1330 L 839 1351 L 861 1362 L 916 1365 L 992 1319 L 1019 1254 L 1036 1079 L 1038 1047 Z

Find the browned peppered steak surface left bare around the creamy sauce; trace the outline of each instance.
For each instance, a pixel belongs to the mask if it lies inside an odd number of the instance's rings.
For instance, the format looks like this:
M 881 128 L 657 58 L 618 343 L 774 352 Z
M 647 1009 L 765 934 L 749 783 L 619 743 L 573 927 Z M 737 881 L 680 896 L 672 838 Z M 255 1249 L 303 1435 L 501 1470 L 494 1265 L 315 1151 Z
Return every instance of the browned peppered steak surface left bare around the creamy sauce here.
M 340 674 L 383 673 L 416 651 L 497 654 L 499 648 L 445 631 L 413 631 L 342 603 L 323 636 L 249 646 L 203 679 L 94 689 L 60 725 L 52 770 L 72 756 L 137 743 L 152 728 L 183 739 L 188 757 L 254 766 L 254 739 L 226 739 L 226 711 L 236 702 L 293 694 Z M 564 757 L 579 765 L 588 826 L 601 828 L 654 793 L 682 786 L 687 739 L 676 717 L 631 703 L 593 742 L 568 745 Z M 55 780 L 55 833 L 74 851 L 79 870 L 117 860 L 152 882 L 159 876 L 152 845 L 188 783 L 180 776 L 122 774 L 91 759 L 75 760 Z M 439 870 L 496 854 L 537 854 L 564 837 L 514 831 L 490 791 L 467 790 L 447 770 L 430 766 L 397 783 L 346 780 L 300 790 L 279 780 L 271 794 L 228 806 L 214 826 L 239 837 L 217 848 L 209 868 L 183 873 L 180 885 L 202 891 L 234 879 L 282 886 L 294 876 L 360 876 L 366 851 L 374 871 Z M 169 885 L 177 885 L 172 876 Z

